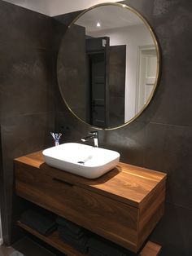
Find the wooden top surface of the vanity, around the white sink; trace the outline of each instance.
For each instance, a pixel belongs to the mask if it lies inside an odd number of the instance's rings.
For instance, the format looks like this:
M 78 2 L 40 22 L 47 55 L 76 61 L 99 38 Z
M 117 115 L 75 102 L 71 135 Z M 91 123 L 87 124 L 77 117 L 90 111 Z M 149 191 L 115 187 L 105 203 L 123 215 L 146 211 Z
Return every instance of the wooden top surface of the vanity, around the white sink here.
M 159 188 L 165 182 L 167 174 L 131 166 L 120 162 L 115 169 L 98 179 L 85 179 L 46 165 L 41 152 L 34 152 L 15 159 L 15 165 L 24 165 L 42 170 L 46 174 L 55 174 L 55 178 L 63 179 L 104 196 L 114 198 L 126 204 L 140 208 L 148 200 L 150 192 Z

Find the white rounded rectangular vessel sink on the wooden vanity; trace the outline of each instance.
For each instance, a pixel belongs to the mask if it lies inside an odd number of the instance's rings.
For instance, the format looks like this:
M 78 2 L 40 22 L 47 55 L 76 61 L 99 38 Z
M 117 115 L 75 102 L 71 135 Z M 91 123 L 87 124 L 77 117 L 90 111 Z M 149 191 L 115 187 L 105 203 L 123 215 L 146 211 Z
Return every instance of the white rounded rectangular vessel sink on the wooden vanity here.
M 42 152 L 46 164 L 88 179 L 96 179 L 112 170 L 120 153 L 81 143 L 63 143 Z

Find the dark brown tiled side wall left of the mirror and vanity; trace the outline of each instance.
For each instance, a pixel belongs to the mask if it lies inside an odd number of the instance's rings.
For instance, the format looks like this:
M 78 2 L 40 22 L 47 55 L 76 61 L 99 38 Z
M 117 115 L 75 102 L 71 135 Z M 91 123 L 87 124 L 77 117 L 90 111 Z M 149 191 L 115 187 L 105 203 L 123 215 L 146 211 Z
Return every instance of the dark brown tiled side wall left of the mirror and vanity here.
M 0 194 L 11 239 L 13 158 L 50 146 L 55 127 L 52 19 L 0 1 Z M 14 235 L 15 232 L 13 232 Z

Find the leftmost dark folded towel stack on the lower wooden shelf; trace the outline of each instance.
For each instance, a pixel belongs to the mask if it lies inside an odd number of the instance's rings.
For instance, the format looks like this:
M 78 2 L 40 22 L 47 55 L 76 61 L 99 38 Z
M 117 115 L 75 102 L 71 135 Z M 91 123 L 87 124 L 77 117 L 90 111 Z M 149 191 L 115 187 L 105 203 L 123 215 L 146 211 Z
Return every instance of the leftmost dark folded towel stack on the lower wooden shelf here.
M 45 217 L 35 210 L 26 210 L 21 214 L 20 222 L 33 228 L 43 236 L 49 236 L 57 228 L 52 218 Z

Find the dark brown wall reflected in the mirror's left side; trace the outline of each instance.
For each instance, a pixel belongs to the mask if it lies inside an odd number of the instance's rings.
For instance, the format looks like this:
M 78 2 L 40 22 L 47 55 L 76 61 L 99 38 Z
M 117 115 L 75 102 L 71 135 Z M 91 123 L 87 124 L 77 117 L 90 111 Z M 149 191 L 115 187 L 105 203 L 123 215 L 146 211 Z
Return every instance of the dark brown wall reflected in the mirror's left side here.
M 72 59 L 72 54 L 76 56 L 75 60 Z M 72 111 L 86 120 L 85 28 L 74 25 L 70 33 L 65 33 L 59 47 L 57 77 L 61 84 L 60 90 Z M 68 85 L 67 90 L 64 85 Z M 74 93 L 76 90 L 79 91 L 78 94 Z

